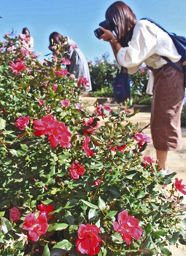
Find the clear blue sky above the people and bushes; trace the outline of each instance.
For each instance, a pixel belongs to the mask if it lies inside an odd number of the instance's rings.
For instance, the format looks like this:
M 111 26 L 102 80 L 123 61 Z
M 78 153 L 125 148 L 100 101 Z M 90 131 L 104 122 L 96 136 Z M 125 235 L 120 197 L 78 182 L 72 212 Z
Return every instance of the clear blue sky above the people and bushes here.
M 69 36 L 88 60 L 108 51 L 109 43 L 95 38 L 94 30 L 105 19 L 111 0 L 1 0 L 1 39 L 11 28 L 19 34 L 28 27 L 35 42 L 35 52 L 48 50 L 53 31 Z M 126 0 L 137 19 L 154 19 L 170 32 L 185 36 L 185 0 Z

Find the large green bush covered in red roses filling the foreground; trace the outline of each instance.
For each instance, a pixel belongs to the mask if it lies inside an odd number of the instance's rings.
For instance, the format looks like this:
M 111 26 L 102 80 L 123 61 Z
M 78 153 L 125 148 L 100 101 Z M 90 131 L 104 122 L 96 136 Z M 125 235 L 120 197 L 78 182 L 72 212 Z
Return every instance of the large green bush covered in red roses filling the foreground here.
M 40 63 L 16 36 L 0 46 L 1 255 L 171 255 L 184 184 L 142 158 L 131 102 L 90 114 L 65 52 Z

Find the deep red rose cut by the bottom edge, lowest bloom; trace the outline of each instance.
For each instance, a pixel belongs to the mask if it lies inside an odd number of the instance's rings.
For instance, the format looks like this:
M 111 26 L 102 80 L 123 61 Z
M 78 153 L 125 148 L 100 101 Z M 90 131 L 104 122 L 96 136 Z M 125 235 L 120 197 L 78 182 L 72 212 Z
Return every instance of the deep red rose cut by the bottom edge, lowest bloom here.
M 76 241 L 78 253 L 96 255 L 100 251 L 102 239 L 98 236 L 100 229 L 92 224 L 81 224 L 78 229 L 78 239 Z

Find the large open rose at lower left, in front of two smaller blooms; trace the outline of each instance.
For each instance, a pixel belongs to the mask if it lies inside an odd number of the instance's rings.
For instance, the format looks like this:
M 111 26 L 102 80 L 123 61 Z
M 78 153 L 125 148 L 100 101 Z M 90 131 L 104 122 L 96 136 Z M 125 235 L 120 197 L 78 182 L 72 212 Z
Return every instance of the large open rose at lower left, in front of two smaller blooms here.
M 38 217 L 36 217 L 37 213 L 39 213 Z M 44 235 L 48 229 L 46 214 L 39 211 L 28 213 L 24 218 L 23 229 L 28 230 L 28 238 L 30 240 L 37 242 L 39 236 Z

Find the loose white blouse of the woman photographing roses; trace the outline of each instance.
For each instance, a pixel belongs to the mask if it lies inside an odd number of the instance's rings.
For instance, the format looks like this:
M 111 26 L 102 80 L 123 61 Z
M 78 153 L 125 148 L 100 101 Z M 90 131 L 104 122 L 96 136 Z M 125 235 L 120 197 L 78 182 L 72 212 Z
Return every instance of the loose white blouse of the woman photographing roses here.
M 167 63 L 161 56 L 166 56 L 172 62 L 177 62 L 181 56 L 170 36 L 149 20 L 140 20 L 136 23 L 133 36 L 128 47 L 122 47 L 117 52 L 117 62 L 127 68 L 129 74 L 136 73 L 141 64 L 154 69 L 163 67 Z M 150 85 L 153 83 L 153 73 L 150 73 Z M 152 88 L 151 88 L 152 89 Z

